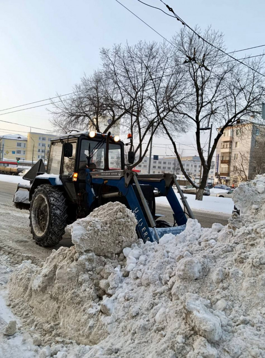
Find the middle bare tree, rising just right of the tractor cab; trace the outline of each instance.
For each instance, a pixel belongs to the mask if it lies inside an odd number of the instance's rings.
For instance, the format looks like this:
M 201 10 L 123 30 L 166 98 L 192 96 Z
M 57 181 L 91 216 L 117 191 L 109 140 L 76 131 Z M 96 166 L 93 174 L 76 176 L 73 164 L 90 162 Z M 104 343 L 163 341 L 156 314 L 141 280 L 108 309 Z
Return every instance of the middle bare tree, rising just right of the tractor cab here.
M 122 109 L 127 111 L 124 127 L 132 134 L 131 150 L 134 147 L 137 157 L 133 167 L 141 163 L 152 137 L 162 134 L 164 120 L 174 117 L 180 124 L 177 132 L 185 130 L 174 116 L 183 91 L 183 75 L 166 43 L 114 45 L 112 51 L 102 49 L 101 54 L 103 66 L 123 98 Z M 124 103 L 130 103 L 130 107 L 127 109 Z

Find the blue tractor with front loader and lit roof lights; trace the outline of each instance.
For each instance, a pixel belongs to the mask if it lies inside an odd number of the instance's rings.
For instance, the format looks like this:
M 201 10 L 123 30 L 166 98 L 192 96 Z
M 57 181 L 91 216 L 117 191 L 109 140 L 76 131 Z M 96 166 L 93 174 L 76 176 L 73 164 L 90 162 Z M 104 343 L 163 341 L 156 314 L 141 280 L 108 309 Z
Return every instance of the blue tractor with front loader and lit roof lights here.
M 128 169 L 134 162 L 133 151 L 128 152 L 127 161 L 124 162 L 124 143 L 110 132 L 71 133 L 53 139 L 47 167 L 40 159 L 23 176 L 29 185 L 18 184 L 13 199 L 18 206 L 21 198 L 18 189 L 29 191 L 30 228 L 35 242 L 40 246 L 56 245 L 67 224 L 87 216 L 100 205 L 116 201 L 135 214 L 136 231 L 144 242 L 159 241 L 165 233 L 183 231 L 187 218 L 173 185 L 181 194 L 188 216 L 193 218 L 193 214 L 176 176 L 138 174 Z M 156 214 L 155 198 L 159 196 L 167 197 L 171 205 L 173 227 Z

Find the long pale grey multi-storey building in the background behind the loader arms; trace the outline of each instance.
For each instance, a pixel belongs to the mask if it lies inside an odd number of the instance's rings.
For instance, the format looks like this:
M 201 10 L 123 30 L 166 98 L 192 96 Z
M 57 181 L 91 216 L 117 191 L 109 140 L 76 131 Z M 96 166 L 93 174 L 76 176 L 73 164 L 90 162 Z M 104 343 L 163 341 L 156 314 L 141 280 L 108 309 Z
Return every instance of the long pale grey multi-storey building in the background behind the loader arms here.
M 188 158 L 188 159 L 187 159 Z M 195 158 L 195 160 L 194 160 Z M 188 175 L 191 176 L 193 180 L 200 179 L 200 170 L 201 170 L 201 162 L 198 156 L 189 156 L 182 157 L 181 163 L 185 168 Z M 141 170 L 141 173 L 148 173 L 149 167 L 149 157 L 144 157 L 142 162 L 138 164 L 135 169 Z M 212 163 L 212 168 L 209 173 L 209 182 L 214 181 L 214 163 Z M 180 164 L 178 160 L 174 156 L 161 156 L 154 155 L 151 158 L 151 167 L 150 174 L 161 174 L 161 173 L 172 173 L 183 176 L 182 171 L 180 169 Z M 184 179 L 184 176 L 183 176 Z

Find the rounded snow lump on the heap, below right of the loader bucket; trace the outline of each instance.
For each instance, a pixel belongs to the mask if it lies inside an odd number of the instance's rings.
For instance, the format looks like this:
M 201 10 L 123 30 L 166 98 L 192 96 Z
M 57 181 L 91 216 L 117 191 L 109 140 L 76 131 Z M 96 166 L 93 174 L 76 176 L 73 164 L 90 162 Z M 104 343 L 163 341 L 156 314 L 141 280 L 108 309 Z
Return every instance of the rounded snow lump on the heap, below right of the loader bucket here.
M 194 257 L 182 258 L 177 266 L 176 276 L 182 280 L 196 280 L 200 277 L 202 265 Z

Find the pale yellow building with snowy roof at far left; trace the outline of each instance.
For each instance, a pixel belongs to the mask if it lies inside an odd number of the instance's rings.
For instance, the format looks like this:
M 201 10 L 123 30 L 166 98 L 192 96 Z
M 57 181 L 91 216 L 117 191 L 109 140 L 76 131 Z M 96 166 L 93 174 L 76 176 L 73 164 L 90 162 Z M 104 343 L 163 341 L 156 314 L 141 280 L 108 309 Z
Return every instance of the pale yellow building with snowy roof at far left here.
M 28 160 L 36 162 L 39 159 L 48 159 L 53 134 L 29 132 L 27 136 L 21 134 L 6 134 L 0 136 L 0 159 Z

